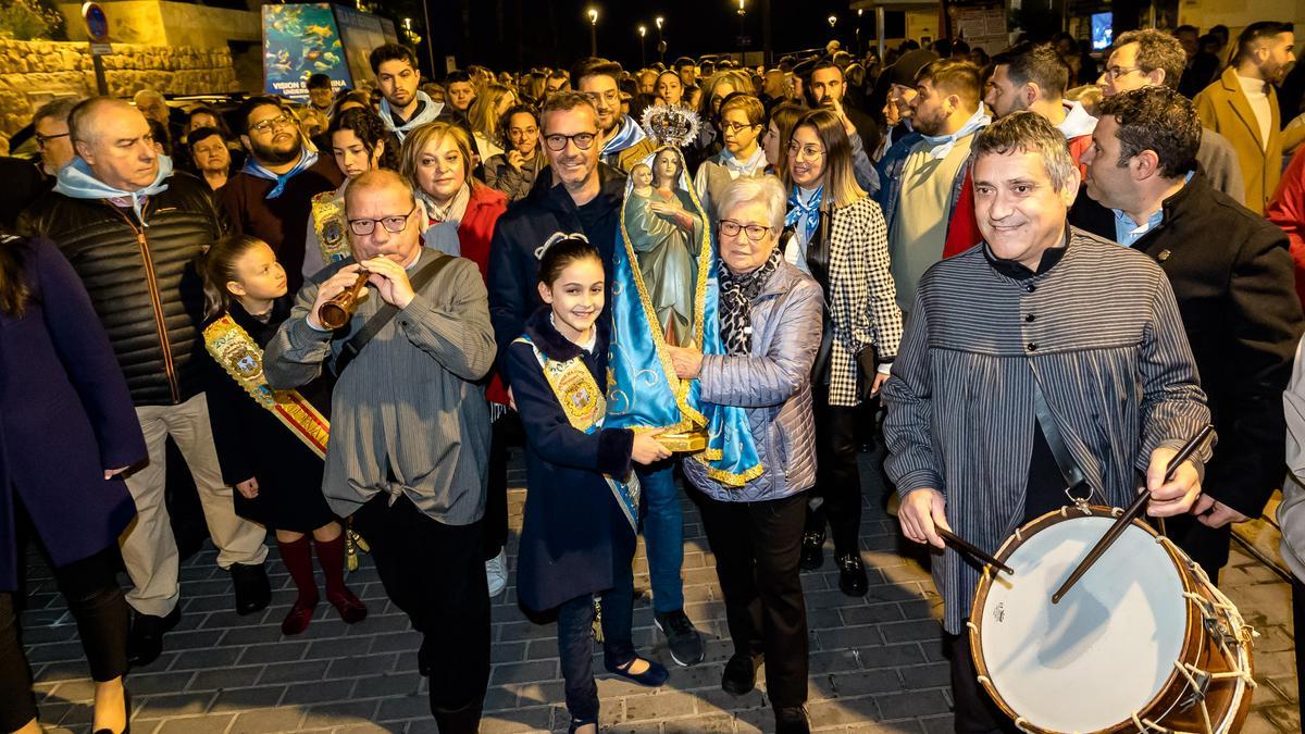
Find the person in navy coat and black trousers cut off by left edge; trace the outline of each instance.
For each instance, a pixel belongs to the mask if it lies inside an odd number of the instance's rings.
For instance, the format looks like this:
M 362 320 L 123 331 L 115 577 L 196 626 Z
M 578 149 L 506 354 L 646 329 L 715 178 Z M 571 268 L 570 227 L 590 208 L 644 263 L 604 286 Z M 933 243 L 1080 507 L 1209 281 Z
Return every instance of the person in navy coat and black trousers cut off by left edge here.
M 127 729 L 117 535 L 136 505 L 120 474 L 145 458 L 127 381 L 72 265 L 50 242 L 0 239 L 0 731 L 40 731 L 14 611 L 20 519 L 77 620 L 94 731 Z

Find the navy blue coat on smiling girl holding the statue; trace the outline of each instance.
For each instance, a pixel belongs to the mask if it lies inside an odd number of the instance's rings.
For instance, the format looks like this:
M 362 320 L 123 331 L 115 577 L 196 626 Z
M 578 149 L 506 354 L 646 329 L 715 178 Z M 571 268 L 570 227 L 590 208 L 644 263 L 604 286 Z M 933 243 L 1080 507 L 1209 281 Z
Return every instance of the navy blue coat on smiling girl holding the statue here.
M 548 308 L 536 311 L 525 332 L 549 359 L 583 355 L 594 379 L 604 384 L 603 329 L 592 354 L 557 333 Z M 506 368 L 526 428 L 526 512 L 517 597 L 527 609 L 543 611 L 611 589 L 615 564 L 629 566 L 634 558 L 634 530 L 603 479 L 603 473 L 629 474 L 634 434 L 626 428 L 592 434 L 573 428 L 530 345 L 509 346 Z

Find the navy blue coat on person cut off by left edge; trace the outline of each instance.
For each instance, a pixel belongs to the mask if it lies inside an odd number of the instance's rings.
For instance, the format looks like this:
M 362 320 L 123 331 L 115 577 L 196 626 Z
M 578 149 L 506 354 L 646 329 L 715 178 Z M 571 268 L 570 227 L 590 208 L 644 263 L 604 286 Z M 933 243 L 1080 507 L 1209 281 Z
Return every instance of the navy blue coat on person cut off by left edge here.
M 31 293 L 0 313 L 0 592 L 18 585 L 16 500 L 55 566 L 117 542 L 136 516 L 106 469 L 146 458 L 145 438 L 104 328 L 68 260 L 48 240 L 10 239 Z

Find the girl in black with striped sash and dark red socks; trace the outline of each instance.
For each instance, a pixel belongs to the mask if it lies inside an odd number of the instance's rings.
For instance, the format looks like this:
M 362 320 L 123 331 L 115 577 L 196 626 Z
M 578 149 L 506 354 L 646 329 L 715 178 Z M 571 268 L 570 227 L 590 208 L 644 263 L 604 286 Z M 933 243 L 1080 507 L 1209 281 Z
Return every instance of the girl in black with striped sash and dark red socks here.
M 236 515 L 275 529 L 299 592 L 281 631 L 298 635 L 312 620 L 318 601 L 312 546 L 326 579 L 326 601 L 346 623 L 360 622 L 367 607 L 345 586 L 345 534 L 321 492 L 330 384 L 318 380 L 273 392 L 262 376 L 262 349 L 290 316 L 286 272 L 266 243 L 244 235 L 214 243 L 200 272 L 204 342 L 226 372 L 209 388 L 222 478 L 236 488 Z

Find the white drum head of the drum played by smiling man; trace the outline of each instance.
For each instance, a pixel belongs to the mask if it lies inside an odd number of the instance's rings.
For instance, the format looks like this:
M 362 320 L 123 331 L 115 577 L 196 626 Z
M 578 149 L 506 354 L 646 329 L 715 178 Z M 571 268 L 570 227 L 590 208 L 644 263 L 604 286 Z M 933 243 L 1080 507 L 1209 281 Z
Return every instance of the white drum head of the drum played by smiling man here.
M 1026 537 L 981 611 L 980 646 L 1001 699 L 1032 726 L 1108 729 L 1160 692 L 1182 654 L 1186 599 L 1164 547 L 1129 526 L 1058 605 L 1054 592 L 1113 522 L 1074 517 Z

